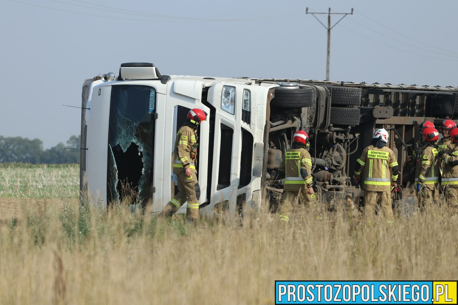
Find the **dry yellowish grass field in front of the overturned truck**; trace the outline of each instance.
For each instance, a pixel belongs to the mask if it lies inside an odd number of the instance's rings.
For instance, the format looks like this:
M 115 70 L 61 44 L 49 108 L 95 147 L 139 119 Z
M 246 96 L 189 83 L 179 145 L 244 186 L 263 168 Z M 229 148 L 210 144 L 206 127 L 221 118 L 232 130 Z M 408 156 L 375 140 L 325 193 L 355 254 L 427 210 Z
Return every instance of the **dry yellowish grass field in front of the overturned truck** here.
M 193 226 L 81 207 L 77 167 L 23 171 L 0 165 L 1 304 L 274 304 L 275 280 L 458 278 L 458 217 L 442 207 L 392 222 L 318 208 L 289 225 L 262 214 Z

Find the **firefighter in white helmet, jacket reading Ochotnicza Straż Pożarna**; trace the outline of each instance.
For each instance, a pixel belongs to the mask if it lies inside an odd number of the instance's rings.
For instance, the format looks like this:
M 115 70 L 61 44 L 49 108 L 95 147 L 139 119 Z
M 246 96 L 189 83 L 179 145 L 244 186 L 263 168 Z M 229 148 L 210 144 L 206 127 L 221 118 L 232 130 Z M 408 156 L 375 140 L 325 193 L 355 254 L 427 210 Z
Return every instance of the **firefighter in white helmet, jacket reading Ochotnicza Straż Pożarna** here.
M 385 128 L 377 129 L 372 136 L 371 145 L 363 150 L 354 170 L 354 183 L 361 180 L 364 169 L 364 203 L 366 216 L 383 214 L 393 218 L 390 186 L 396 187 L 398 180 L 398 161 L 393 150 L 386 145 L 388 132 Z

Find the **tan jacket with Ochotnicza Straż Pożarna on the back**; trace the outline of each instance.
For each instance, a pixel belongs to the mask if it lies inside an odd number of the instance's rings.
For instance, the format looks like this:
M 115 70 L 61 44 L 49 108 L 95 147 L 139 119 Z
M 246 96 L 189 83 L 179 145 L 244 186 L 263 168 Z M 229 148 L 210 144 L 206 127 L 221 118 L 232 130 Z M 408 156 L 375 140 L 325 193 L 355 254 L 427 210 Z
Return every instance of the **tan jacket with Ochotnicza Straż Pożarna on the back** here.
M 356 161 L 360 164 L 359 169 L 354 171 L 356 177 L 359 177 L 363 167 L 365 168 L 365 191 L 389 192 L 391 182 L 398 180 L 398 161 L 396 161 L 393 150 L 386 146 L 378 148 L 369 145 Z

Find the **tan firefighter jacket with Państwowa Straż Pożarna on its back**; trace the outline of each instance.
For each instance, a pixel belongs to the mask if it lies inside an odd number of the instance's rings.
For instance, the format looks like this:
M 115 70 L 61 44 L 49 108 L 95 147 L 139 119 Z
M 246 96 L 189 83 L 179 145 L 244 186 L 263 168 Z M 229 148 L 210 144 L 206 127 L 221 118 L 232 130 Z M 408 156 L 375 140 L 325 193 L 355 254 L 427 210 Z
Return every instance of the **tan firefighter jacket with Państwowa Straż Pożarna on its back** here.
M 305 148 L 290 148 L 283 155 L 278 171 L 285 172 L 285 191 L 300 191 L 313 186 L 312 160 Z

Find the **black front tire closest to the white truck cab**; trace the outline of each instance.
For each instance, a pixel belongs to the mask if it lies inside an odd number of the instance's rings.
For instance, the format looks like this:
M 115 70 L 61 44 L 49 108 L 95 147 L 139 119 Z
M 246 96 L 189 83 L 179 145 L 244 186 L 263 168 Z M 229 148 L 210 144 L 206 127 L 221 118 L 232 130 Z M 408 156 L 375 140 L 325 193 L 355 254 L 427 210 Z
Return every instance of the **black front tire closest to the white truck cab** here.
M 272 108 L 301 108 L 315 104 L 312 88 L 286 89 L 275 88 L 275 97 L 270 101 Z

